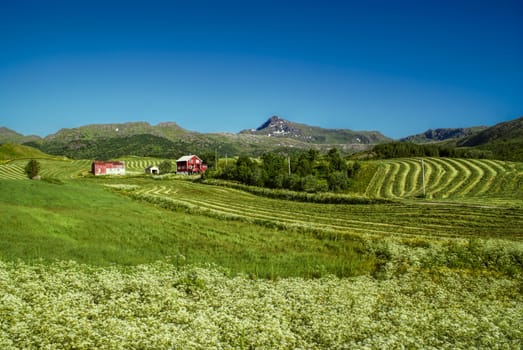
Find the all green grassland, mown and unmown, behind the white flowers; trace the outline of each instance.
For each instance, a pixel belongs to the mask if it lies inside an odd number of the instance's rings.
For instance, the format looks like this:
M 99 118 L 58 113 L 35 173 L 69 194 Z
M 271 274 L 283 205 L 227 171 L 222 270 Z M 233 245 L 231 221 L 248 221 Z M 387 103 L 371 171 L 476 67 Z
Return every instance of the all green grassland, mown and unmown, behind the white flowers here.
M 159 162 L 126 160 L 136 174 Z M 25 179 L 26 160 L 0 165 L 4 259 L 137 265 L 170 257 L 258 277 L 353 276 L 390 260 L 382 242 L 429 249 L 455 240 L 467 251 L 468 240 L 523 239 L 520 163 L 427 158 L 420 199 L 417 159 L 366 162 L 353 179 L 355 194 L 295 201 L 289 191 L 91 177 L 88 160 L 40 161 L 40 182 Z

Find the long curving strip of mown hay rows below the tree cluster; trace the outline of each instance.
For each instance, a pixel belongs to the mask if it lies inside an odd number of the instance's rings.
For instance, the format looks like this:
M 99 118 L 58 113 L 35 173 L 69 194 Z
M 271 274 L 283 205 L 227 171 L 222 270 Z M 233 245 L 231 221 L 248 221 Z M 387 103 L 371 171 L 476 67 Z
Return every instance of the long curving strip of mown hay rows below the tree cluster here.
M 240 190 L 184 181 L 147 184 L 133 193 L 176 208 L 300 230 L 378 237 L 510 237 L 520 239 L 523 212 L 458 204 L 342 205 L 259 197 Z M 147 197 L 147 198 L 145 198 Z

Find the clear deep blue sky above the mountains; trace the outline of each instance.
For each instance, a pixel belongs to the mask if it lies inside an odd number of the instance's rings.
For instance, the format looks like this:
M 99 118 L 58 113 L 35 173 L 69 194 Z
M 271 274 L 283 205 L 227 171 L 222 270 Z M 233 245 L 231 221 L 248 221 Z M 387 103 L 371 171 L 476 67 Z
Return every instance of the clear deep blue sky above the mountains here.
M 399 138 L 523 115 L 523 1 L 0 0 L 0 126 L 271 115 Z

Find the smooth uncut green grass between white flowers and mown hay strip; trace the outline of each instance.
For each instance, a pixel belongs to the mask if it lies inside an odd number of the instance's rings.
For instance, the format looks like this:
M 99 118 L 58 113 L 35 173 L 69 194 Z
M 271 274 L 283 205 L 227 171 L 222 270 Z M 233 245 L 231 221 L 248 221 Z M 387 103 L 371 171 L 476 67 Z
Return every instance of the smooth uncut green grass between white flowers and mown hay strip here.
M 154 180 L 149 180 L 155 183 Z M 185 183 L 185 182 L 182 182 Z M 98 181 L 0 181 L 0 256 L 136 265 L 215 263 L 259 277 L 367 273 L 360 243 L 332 243 L 241 221 L 173 212 L 133 201 Z

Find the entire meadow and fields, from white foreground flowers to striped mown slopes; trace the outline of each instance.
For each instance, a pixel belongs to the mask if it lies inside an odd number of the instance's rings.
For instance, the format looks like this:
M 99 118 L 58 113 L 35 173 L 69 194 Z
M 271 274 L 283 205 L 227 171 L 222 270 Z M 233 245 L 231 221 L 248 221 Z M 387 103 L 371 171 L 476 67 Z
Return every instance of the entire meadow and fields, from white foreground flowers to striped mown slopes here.
M 523 345 L 522 163 L 424 158 L 423 196 L 419 159 L 363 162 L 329 204 L 125 160 L 0 164 L 2 348 Z

